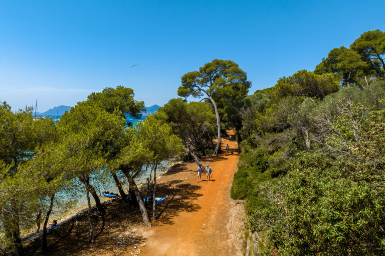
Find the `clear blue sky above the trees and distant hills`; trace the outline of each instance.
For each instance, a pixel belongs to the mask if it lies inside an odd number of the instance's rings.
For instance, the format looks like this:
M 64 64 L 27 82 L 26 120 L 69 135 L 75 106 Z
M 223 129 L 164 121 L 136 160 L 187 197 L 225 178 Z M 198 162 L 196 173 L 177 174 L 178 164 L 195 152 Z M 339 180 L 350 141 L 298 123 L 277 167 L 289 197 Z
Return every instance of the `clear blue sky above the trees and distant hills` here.
M 215 58 L 237 62 L 251 94 L 384 30 L 382 9 L 383 0 L 0 0 L 0 100 L 13 110 L 38 100 L 44 112 L 123 85 L 163 105 L 184 73 Z

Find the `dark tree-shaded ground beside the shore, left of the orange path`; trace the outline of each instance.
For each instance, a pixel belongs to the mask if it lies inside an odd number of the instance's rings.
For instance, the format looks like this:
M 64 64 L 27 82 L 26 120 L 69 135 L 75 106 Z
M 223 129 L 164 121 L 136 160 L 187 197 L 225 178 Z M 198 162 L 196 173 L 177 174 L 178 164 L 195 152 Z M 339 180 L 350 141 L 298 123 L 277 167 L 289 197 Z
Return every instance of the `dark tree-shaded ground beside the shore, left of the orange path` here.
M 26 242 L 24 244 L 26 255 L 98 254 L 96 251 L 121 255 L 125 250 L 129 254 L 128 250 L 131 250 L 138 241 L 144 240 L 142 236 L 127 231 L 128 227 L 142 223 L 140 211 L 130 209 L 127 204 L 119 201 L 111 202 L 106 207 L 105 215 L 94 211 L 91 218 L 95 242 L 89 242 L 89 223 L 85 213 L 52 230 L 47 236 L 49 245 L 47 251 L 41 250 L 41 237 Z

